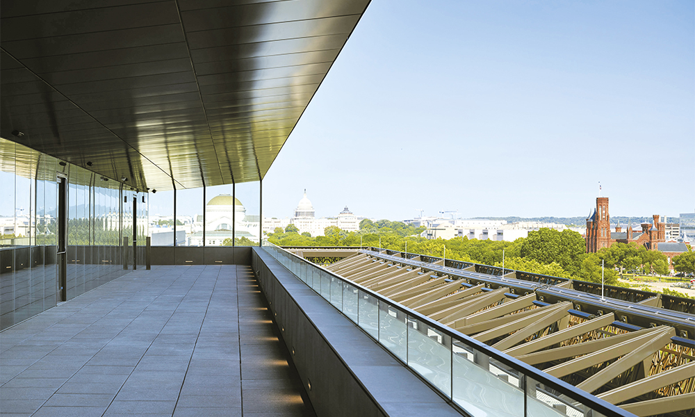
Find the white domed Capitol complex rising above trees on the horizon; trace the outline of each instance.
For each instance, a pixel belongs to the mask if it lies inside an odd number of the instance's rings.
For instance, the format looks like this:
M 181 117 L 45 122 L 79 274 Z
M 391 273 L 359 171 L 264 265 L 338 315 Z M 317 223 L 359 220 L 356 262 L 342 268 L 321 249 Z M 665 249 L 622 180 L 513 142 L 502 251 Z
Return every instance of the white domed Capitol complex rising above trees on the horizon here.
M 316 211 L 314 211 L 311 201 L 306 197 L 306 190 L 304 190 L 304 197 L 300 199 L 291 218 L 263 218 L 263 234 L 273 233 L 277 227 L 284 230 L 289 224 L 294 224 L 299 229 L 300 234 L 308 232 L 312 237 L 323 236 L 324 230 L 329 226 L 335 226 L 345 231 L 358 231 L 359 222 L 364 219 L 364 217 L 352 214 L 347 206 L 335 218 L 316 218 Z

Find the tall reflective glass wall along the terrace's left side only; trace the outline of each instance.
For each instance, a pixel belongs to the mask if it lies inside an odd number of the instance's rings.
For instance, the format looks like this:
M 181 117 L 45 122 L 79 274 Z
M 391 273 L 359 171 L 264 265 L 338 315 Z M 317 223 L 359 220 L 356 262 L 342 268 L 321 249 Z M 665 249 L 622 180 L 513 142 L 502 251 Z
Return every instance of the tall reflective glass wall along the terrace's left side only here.
M 0 138 L 0 329 L 56 305 L 58 175 L 67 178 L 67 299 L 127 272 L 123 208 L 129 206 L 126 236 L 132 236 L 133 205 L 122 203 L 120 183 Z M 125 197 L 139 198 L 138 263 L 144 263 L 147 197 L 143 203 L 143 194 L 131 190 Z

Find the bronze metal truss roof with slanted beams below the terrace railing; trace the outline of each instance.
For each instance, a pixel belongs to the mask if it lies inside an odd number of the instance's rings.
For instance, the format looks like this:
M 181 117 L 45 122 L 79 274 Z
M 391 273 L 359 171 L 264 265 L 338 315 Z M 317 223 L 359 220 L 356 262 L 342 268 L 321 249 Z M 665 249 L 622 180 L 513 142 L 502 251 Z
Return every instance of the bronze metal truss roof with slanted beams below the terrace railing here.
M 695 415 L 692 300 L 379 250 L 325 268 L 637 416 Z

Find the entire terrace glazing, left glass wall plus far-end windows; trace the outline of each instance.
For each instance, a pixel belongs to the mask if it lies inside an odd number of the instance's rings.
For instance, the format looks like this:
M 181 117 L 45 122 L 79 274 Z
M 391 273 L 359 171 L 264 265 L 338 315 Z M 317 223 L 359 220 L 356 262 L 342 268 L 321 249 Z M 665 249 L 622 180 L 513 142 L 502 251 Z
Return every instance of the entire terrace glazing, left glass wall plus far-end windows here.
M 67 181 L 67 300 L 124 275 L 124 259 L 144 268 L 147 236 L 153 246 L 251 246 L 262 237 L 260 181 L 138 193 L 0 138 L 2 329 L 62 297 L 58 177 Z

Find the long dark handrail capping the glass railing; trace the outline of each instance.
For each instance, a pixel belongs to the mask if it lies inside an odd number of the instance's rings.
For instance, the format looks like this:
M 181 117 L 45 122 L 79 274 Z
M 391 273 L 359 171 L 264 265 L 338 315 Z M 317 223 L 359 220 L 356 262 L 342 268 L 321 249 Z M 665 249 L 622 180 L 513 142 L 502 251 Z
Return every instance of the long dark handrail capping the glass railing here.
M 274 247 L 277 247 L 280 250 L 283 250 L 283 248 L 274 245 L 270 242 L 265 242 L 268 245 L 272 245 Z M 262 246 L 261 246 L 262 247 Z M 502 363 L 505 363 L 507 366 L 510 366 L 514 370 L 517 370 L 520 373 L 525 374 L 528 377 L 531 377 L 534 381 L 541 382 L 542 384 L 546 384 L 553 389 L 560 391 L 563 395 L 567 395 L 569 398 L 580 402 L 581 404 L 588 405 L 591 407 L 591 409 L 596 409 L 596 411 L 600 412 L 601 414 L 605 415 L 617 415 L 617 416 L 624 416 L 624 417 L 634 417 L 635 415 L 621 409 L 620 407 L 617 407 L 614 404 L 611 404 L 610 402 L 607 402 L 605 400 L 601 400 L 600 398 L 597 398 L 594 395 L 591 395 L 591 393 L 587 393 L 587 391 L 584 391 L 582 389 L 578 389 L 577 387 L 568 384 L 567 382 L 562 381 L 562 379 L 559 379 L 557 377 L 553 377 L 552 375 L 548 375 L 547 373 L 544 373 L 542 370 L 539 370 L 537 368 L 534 368 L 533 366 L 530 366 L 528 363 L 525 363 L 523 361 L 519 361 L 518 359 L 515 359 L 514 357 L 509 356 L 508 354 L 505 354 L 504 352 L 500 352 L 499 350 L 494 349 L 493 347 L 486 345 L 485 343 L 482 343 L 480 341 L 475 340 L 474 338 L 471 338 L 471 336 L 467 336 L 466 334 L 463 334 L 461 332 L 458 332 L 455 329 L 452 329 L 448 326 L 445 326 L 441 324 L 440 322 L 437 322 L 436 320 L 432 320 L 431 318 L 424 316 L 421 313 L 418 313 L 417 311 L 414 311 L 412 309 L 409 309 L 407 306 L 403 306 L 402 304 L 395 302 L 391 300 L 389 297 L 384 297 L 384 295 L 381 295 L 379 293 L 376 293 L 375 291 L 370 290 L 369 288 L 366 288 L 364 286 L 361 286 L 360 284 L 354 283 L 350 281 L 349 279 L 346 279 L 345 277 L 341 277 L 340 275 L 335 274 L 332 271 L 329 271 L 325 268 L 322 268 L 319 265 L 316 265 L 315 263 L 311 263 L 309 261 L 306 261 L 306 259 L 301 258 L 300 256 L 297 256 L 296 254 L 293 254 L 292 252 L 289 252 L 287 250 L 284 250 L 287 254 L 291 256 L 295 256 L 295 258 L 300 259 L 302 262 L 305 262 L 308 265 L 311 265 L 313 268 L 318 268 L 322 270 L 323 272 L 327 272 L 329 275 L 332 275 L 336 279 L 347 282 L 347 284 L 350 284 L 356 288 L 359 289 L 359 291 L 363 291 L 365 293 L 368 293 L 369 295 L 377 298 L 378 300 L 383 300 L 387 304 L 391 304 L 395 308 L 399 309 L 403 313 L 406 313 L 409 316 L 415 316 L 418 320 L 425 322 L 425 324 L 445 333 L 448 334 L 448 336 L 452 338 L 456 338 L 459 341 L 464 342 L 466 345 L 471 346 L 475 348 L 475 350 L 479 350 L 480 352 L 488 355 L 489 357 L 492 357 Z M 342 311 L 341 311 L 342 313 Z

